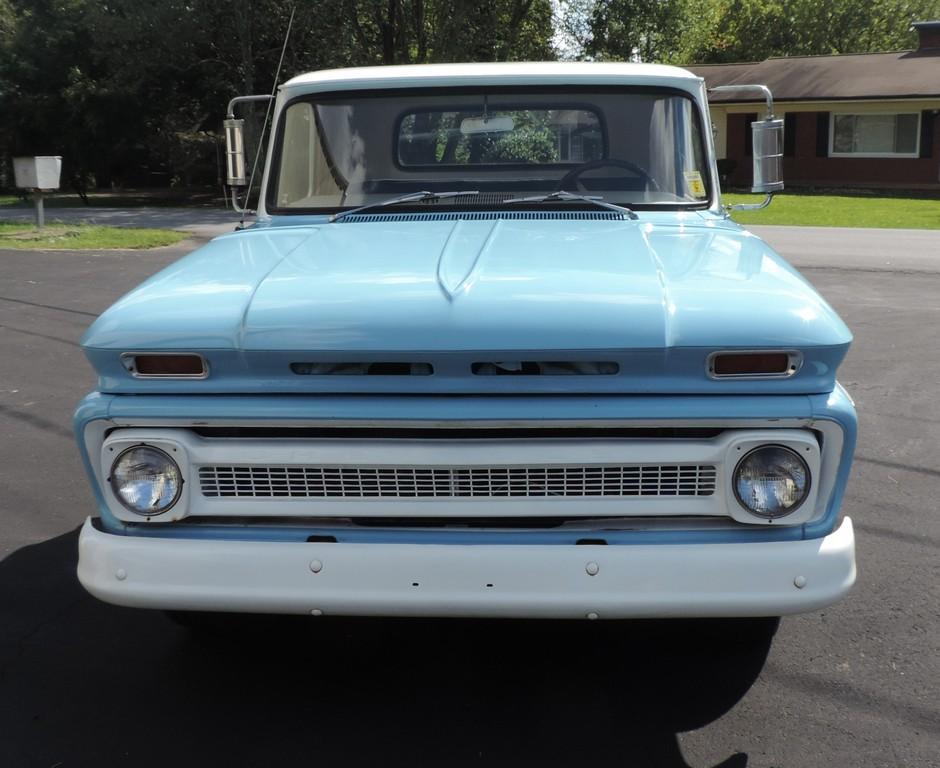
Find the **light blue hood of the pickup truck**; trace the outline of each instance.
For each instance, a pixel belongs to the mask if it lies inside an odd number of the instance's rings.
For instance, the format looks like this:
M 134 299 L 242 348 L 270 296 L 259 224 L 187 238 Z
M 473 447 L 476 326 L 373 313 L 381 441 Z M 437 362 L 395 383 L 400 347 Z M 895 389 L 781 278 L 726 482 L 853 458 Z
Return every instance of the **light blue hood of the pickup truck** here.
M 392 391 L 508 391 L 507 378 L 511 391 L 826 391 L 851 341 L 812 286 L 733 225 L 383 218 L 246 230 L 171 265 L 86 333 L 102 385 L 167 391 L 175 385 L 129 377 L 119 354 L 187 350 L 212 364 L 209 379 L 176 383 L 198 391 L 262 381 L 271 391 L 281 379 L 285 391 L 375 391 L 379 378 L 396 379 Z M 807 364 L 787 381 L 715 382 L 704 359 L 718 349 L 797 350 Z M 522 388 L 518 377 L 463 375 L 531 360 L 621 371 Z M 290 368 L 356 361 L 427 362 L 435 373 L 365 382 Z

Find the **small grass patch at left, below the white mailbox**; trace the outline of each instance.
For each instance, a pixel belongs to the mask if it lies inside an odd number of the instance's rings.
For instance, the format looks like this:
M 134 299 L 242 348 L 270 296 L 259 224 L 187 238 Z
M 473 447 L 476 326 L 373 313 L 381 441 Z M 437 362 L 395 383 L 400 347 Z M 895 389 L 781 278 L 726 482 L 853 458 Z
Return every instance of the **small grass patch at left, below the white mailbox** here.
M 157 248 L 188 237 L 172 229 L 101 227 L 93 224 L 32 224 L 0 222 L 0 248 L 19 250 L 98 250 L 107 248 Z

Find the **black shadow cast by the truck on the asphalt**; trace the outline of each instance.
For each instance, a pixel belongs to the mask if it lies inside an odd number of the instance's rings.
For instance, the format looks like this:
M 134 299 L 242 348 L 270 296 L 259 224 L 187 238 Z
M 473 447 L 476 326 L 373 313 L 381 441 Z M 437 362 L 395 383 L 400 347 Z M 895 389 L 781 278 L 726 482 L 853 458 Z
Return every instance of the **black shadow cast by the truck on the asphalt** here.
M 225 617 L 193 635 L 86 595 L 76 547 L 0 562 L 0 765 L 681 768 L 676 734 L 741 699 L 774 629 Z

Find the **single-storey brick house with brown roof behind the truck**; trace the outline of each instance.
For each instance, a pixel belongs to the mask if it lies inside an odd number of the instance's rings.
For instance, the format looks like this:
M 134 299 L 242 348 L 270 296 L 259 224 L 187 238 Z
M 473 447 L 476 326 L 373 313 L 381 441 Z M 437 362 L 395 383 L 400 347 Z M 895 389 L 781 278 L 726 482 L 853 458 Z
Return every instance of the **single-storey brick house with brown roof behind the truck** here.
M 940 21 L 917 22 L 917 50 L 771 58 L 689 67 L 709 87 L 761 83 L 784 119 L 788 187 L 940 190 Z M 713 94 L 731 186 L 751 182 L 755 94 Z

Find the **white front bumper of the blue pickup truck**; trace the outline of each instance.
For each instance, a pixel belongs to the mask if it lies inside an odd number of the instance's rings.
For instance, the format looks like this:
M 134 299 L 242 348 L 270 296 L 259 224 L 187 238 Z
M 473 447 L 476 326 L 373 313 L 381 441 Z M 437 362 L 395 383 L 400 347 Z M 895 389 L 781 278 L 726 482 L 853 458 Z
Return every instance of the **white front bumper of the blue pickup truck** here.
M 626 546 L 159 539 L 89 519 L 79 555 L 79 580 L 110 603 L 315 615 L 776 616 L 855 581 L 849 518 L 810 541 Z

